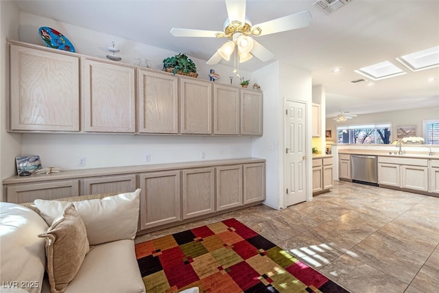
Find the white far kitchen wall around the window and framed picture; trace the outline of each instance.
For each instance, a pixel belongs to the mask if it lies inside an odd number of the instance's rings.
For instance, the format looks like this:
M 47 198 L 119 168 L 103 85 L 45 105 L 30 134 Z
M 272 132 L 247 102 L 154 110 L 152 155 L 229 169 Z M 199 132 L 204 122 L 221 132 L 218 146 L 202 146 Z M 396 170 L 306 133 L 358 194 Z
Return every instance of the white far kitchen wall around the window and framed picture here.
M 383 111 L 381 113 L 359 115 L 353 119 L 344 122 L 337 122 L 333 118 L 326 120 L 327 130 L 332 131 L 332 138 L 327 141 L 337 140 L 337 126 L 355 125 L 355 124 L 370 124 L 390 122 L 392 124 L 390 139 L 396 139 L 396 129 L 398 126 L 416 125 L 416 136 L 424 137 L 423 134 L 423 120 L 439 119 L 439 109 L 433 108 L 417 108 L 410 110 L 397 111 Z

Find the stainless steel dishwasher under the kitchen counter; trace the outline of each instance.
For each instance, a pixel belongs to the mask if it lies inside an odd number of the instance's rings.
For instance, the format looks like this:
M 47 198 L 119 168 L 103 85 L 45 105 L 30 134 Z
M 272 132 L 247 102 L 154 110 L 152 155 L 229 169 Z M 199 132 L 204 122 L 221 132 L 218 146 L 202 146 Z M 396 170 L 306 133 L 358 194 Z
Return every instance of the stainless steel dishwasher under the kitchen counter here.
M 377 156 L 351 155 L 352 182 L 378 185 Z

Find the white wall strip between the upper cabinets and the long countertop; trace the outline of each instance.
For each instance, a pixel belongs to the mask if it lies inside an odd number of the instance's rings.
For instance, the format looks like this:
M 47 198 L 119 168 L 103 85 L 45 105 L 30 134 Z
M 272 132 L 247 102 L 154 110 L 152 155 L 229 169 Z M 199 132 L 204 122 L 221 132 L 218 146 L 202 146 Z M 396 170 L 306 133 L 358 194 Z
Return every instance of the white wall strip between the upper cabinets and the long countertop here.
M 23 134 L 23 155 L 40 156 L 43 167 L 81 169 L 252 156 L 249 137 L 173 137 L 112 134 Z M 145 154 L 151 161 L 145 163 Z M 86 158 L 79 167 L 78 159 Z M 263 158 L 263 156 L 261 156 Z

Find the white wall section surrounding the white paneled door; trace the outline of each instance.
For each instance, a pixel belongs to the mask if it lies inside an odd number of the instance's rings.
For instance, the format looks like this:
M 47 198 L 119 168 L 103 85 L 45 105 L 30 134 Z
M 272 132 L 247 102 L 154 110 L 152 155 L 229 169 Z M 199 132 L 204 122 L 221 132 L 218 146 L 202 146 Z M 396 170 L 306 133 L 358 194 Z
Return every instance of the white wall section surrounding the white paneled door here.
M 307 124 L 311 127 L 311 73 L 284 62 L 270 65 L 253 72 L 263 89 L 263 137 L 253 139 L 253 156 L 267 160 L 265 204 L 274 209 L 285 208 L 285 98 L 290 97 L 308 103 Z M 311 132 L 307 131 L 308 156 L 311 158 Z M 264 156 L 265 154 L 265 156 Z M 312 198 L 312 161 L 307 162 L 307 199 Z

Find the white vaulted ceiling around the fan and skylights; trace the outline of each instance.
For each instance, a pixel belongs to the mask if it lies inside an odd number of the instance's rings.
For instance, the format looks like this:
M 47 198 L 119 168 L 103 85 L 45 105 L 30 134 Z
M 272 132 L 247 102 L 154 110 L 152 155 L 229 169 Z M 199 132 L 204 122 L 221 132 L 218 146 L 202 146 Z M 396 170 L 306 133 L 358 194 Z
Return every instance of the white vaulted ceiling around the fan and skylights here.
M 222 30 L 227 17 L 223 0 L 32 0 L 14 1 L 23 12 L 147 45 L 209 60 L 224 39 L 176 38 L 172 27 Z M 350 114 L 439 106 L 439 67 L 410 71 L 395 58 L 439 45 L 439 0 L 352 0 L 325 15 L 315 0 L 248 0 L 252 23 L 308 10 L 311 25 L 298 30 L 260 36 L 258 42 L 295 67 L 311 71 L 313 85 L 327 93 L 327 117 L 340 110 Z M 355 73 L 388 60 L 407 73 L 395 78 L 351 84 Z M 254 71 L 268 63 L 257 58 L 240 65 Z M 222 64 L 228 62 L 222 60 Z M 233 64 L 232 64 L 233 66 Z M 342 71 L 332 73 L 340 67 Z M 427 82 L 428 78 L 436 78 Z

